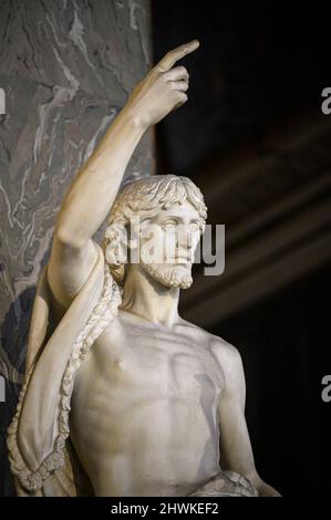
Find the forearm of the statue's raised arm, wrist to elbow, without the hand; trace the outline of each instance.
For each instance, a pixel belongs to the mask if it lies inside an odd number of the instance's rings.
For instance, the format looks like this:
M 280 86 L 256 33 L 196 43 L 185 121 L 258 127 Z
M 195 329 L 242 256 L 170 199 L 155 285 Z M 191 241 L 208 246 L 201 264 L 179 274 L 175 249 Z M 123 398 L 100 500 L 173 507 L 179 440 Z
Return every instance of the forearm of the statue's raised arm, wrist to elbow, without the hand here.
M 134 113 L 124 107 L 69 188 L 55 227 L 64 240 L 83 246 L 102 225 L 143 133 Z

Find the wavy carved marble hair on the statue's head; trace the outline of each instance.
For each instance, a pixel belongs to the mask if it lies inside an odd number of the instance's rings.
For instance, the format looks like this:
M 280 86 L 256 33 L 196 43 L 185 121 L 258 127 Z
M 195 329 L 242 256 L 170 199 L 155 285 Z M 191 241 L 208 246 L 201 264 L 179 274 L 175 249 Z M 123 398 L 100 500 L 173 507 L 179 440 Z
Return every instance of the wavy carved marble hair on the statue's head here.
M 125 277 L 127 237 L 125 229 L 135 217 L 153 218 L 158 211 L 187 200 L 198 211 L 203 232 L 207 207 L 199 188 L 188 178 L 177 175 L 154 175 L 130 183 L 117 195 L 111 210 L 103 241 L 107 264 L 117 283 Z

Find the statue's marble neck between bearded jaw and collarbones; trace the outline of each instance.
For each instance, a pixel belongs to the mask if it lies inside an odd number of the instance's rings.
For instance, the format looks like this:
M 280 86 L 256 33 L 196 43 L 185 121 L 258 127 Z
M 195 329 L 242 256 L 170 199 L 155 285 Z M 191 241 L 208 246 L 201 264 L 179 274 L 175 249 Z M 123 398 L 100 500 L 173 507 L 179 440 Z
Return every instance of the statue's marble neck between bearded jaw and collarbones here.
M 139 264 L 128 264 L 121 309 L 152 323 L 172 326 L 178 320 L 179 289 L 154 280 Z

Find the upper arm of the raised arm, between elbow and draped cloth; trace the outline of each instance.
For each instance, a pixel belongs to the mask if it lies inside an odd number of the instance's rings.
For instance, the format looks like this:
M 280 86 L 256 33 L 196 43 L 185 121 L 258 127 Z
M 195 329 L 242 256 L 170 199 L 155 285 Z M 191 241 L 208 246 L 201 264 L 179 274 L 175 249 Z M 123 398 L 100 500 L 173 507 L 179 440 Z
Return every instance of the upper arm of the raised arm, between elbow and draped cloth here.
M 68 308 L 87 280 L 97 258 L 93 240 L 77 246 L 54 233 L 48 282 L 55 300 Z

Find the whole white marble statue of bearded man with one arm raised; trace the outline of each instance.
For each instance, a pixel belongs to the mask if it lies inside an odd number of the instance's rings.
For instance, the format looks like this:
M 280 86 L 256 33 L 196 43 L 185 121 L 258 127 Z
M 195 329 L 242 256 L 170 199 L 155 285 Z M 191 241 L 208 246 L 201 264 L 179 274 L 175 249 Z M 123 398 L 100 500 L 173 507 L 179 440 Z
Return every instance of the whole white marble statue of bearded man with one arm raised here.
M 207 215 L 200 190 L 164 175 L 117 195 L 144 132 L 187 101 L 176 63 L 198 45 L 167 53 L 134 89 L 59 212 L 8 435 L 20 496 L 278 495 L 255 468 L 238 351 L 178 315 Z M 92 237 L 108 212 L 101 247 Z M 137 218 L 141 240 L 127 233 Z M 130 261 L 146 243 L 165 251 L 179 226 L 173 258 Z

